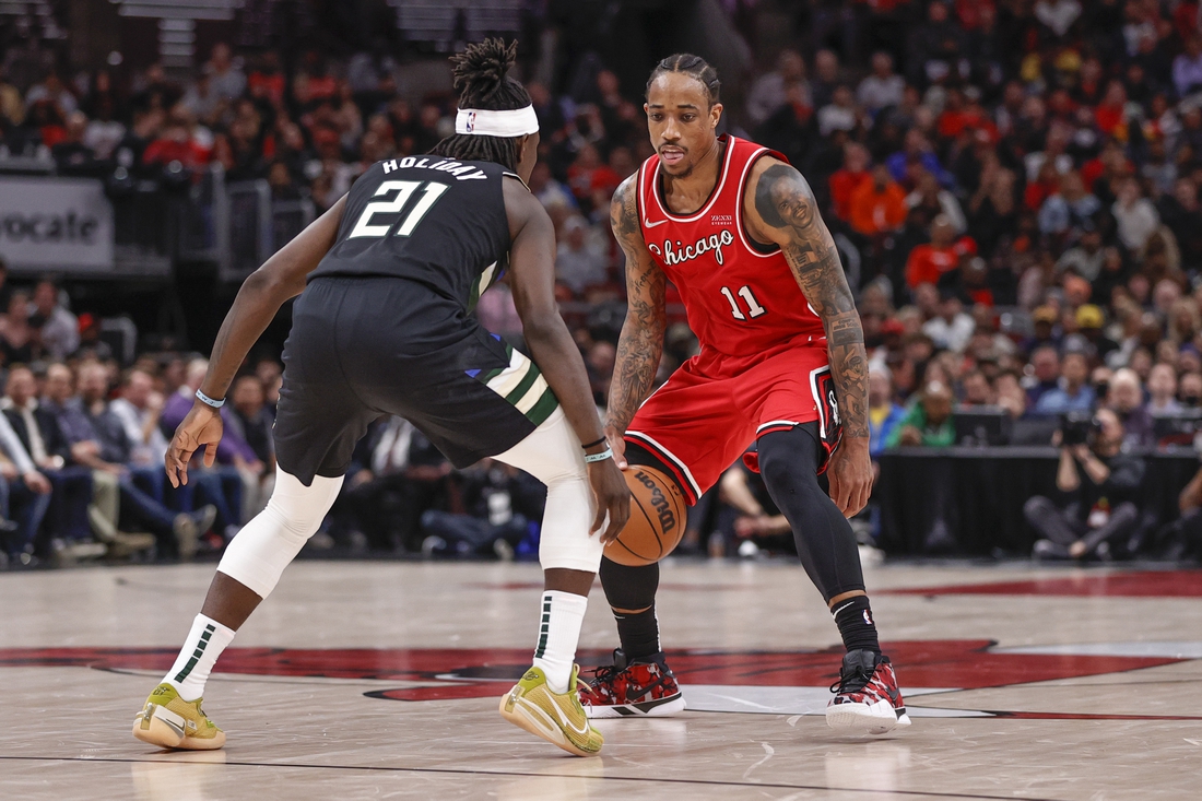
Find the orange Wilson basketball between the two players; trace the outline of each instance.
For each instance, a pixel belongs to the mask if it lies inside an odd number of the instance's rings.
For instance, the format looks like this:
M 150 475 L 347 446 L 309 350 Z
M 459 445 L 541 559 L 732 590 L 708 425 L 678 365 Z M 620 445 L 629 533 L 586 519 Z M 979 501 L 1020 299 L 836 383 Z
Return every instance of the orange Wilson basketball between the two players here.
M 680 542 L 688 506 L 676 482 L 655 468 L 632 465 L 623 471 L 630 487 L 630 521 L 605 554 L 632 568 L 659 562 Z

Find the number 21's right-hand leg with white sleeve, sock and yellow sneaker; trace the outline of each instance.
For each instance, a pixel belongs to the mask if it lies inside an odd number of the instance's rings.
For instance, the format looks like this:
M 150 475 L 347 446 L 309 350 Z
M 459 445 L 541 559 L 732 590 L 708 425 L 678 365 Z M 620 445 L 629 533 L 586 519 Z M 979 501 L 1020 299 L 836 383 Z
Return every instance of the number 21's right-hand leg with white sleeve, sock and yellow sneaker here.
M 538 560 L 543 593 L 532 665 L 501 699 L 506 720 L 578 756 L 601 750 L 576 692 L 576 646 L 588 607 L 601 540 L 590 533 L 595 503 L 584 449 L 561 409 L 495 457 L 547 485 Z M 566 723 L 566 725 L 565 725 Z

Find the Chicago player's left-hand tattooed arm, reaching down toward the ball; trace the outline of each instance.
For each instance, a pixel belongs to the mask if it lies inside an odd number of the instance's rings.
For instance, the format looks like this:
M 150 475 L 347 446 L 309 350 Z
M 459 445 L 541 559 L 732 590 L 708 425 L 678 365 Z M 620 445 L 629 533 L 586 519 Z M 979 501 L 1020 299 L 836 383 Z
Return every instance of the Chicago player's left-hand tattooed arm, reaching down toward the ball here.
M 618 357 L 609 382 L 609 408 L 606 414 L 606 437 L 618 458 L 626 467 L 626 432 L 638 407 L 651 392 L 651 381 L 664 352 L 664 272 L 651 260 L 638 225 L 636 203 L 637 173 L 627 178 L 609 203 L 609 225 L 613 236 L 626 254 L 626 321 L 618 339 Z

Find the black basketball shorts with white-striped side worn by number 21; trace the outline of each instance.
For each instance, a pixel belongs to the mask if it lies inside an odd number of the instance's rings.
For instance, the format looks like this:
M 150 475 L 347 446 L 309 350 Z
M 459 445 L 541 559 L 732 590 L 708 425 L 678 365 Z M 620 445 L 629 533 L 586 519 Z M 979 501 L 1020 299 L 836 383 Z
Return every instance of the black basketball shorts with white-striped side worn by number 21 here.
M 337 477 L 382 415 L 457 468 L 510 450 L 558 407 L 538 368 L 454 301 L 395 278 L 314 279 L 292 310 L 275 419 L 280 469 Z

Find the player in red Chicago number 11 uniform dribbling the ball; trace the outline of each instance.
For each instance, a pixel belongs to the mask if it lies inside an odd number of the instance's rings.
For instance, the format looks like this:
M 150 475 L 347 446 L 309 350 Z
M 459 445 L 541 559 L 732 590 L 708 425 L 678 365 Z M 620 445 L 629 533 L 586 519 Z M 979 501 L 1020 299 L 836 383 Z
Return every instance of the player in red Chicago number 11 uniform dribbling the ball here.
M 673 476 L 690 504 L 748 453 L 789 518 L 797 552 L 847 649 L 827 723 L 881 734 L 909 725 L 881 654 L 856 538 L 868 502 L 868 362 L 859 315 L 805 179 L 783 155 L 716 135 L 718 75 L 678 54 L 651 72 L 644 106 L 656 154 L 614 194 L 629 312 L 606 434 L 619 465 Z M 666 281 L 701 352 L 654 394 Z M 831 493 L 817 475 L 826 471 Z M 621 648 L 582 701 L 591 717 L 672 714 L 684 699 L 655 619 L 659 565 L 601 564 Z

